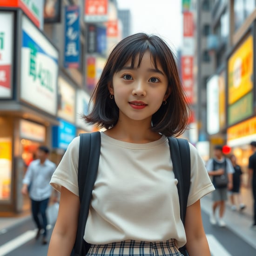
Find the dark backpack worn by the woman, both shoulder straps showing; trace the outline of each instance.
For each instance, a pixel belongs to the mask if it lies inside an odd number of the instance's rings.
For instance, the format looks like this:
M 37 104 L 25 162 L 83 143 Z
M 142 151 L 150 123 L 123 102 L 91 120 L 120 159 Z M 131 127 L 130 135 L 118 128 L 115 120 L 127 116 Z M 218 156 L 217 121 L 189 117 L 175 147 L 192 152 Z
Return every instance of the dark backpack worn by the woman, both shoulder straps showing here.
M 168 142 L 173 163 L 174 175 L 178 180 L 177 189 L 180 202 L 180 216 L 184 225 L 190 188 L 189 143 L 187 140 L 177 139 L 174 137 L 168 137 Z M 89 213 L 92 190 L 97 176 L 100 152 L 100 132 L 80 134 L 78 187 L 81 208 L 78 219 L 76 240 L 71 256 L 85 256 L 90 248 L 90 244 L 84 241 L 83 236 Z M 184 256 L 189 256 L 185 246 L 179 248 L 179 250 Z

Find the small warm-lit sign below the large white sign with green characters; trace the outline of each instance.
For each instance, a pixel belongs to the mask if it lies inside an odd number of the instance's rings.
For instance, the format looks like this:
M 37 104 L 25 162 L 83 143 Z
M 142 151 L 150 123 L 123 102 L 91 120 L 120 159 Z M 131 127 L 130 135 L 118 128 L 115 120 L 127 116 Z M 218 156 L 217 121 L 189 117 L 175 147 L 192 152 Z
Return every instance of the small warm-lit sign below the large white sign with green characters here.
M 27 120 L 20 120 L 20 137 L 33 141 L 45 141 L 46 128 Z

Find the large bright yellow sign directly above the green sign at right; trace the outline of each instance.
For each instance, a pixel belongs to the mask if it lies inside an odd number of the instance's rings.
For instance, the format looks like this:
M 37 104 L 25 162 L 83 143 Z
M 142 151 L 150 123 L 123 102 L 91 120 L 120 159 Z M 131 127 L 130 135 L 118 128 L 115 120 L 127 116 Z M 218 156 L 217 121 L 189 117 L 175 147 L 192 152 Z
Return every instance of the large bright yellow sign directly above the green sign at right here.
M 253 88 L 253 37 L 232 54 L 228 62 L 229 104 L 234 103 Z

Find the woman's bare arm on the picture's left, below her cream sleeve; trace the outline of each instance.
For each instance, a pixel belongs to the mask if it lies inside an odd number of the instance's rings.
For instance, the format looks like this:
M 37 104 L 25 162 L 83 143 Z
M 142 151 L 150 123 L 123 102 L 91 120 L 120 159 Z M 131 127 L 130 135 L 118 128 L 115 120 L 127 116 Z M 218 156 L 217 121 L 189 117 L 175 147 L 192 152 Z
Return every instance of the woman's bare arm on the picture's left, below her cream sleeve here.
M 76 237 L 79 209 L 79 197 L 61 187 L 59 213 L 47 256 L 70 256 Z

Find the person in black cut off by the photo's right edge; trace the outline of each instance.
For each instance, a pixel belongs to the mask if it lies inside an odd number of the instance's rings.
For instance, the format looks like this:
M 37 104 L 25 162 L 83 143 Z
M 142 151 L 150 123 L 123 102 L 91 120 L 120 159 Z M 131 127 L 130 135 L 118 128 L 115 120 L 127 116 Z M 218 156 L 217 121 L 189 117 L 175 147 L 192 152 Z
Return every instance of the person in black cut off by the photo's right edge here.
M 251 182 L 252 186 L 252 194 L 253 194 L 253 224 L 251 226 L 252 229 L 256 229 L 256 141 L 252 141 L 250 143 L 253 154 L 249 157 L 249 182 Z

